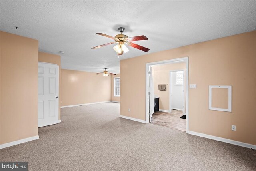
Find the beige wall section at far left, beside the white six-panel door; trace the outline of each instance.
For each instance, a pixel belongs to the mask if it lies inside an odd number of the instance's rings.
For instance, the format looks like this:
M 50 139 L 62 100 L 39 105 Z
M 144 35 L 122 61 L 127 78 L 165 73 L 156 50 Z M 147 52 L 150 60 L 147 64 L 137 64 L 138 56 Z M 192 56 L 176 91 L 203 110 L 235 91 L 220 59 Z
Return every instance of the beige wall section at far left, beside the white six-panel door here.
M 38 135 L 38 40 L 0 31 L 0 144 Z

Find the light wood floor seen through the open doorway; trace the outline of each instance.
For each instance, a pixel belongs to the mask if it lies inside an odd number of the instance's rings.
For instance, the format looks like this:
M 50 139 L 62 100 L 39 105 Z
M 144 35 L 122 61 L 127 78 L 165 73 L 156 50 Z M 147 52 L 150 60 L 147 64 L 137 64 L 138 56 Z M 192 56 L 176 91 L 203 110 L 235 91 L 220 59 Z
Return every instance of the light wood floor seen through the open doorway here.
M 186 119 L 181 119 L 183 111 L 172 110 L 171 113 L 155 111 L 151 118 L 151 123 L 154 125 L 160 125 L 177 129 L 180 131 L 186 131 Z

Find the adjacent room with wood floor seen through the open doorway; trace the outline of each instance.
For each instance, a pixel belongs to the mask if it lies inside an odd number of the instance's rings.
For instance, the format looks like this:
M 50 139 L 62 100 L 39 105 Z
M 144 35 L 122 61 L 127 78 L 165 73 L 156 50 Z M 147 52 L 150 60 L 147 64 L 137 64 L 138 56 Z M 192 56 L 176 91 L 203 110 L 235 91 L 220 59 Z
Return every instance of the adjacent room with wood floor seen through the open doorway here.
M 150 83 L 153 83 L 150 84 L 150 93 L 154 96 L 151 123 L 186 132 L 186 63 L 156 64 L 150 67 L 149 78 Z

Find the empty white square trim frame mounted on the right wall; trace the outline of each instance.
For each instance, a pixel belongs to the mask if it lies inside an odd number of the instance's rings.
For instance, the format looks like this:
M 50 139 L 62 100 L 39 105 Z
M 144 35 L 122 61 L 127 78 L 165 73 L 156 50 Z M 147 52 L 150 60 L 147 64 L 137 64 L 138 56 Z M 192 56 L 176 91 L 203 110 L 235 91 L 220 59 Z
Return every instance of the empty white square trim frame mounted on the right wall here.
M 228 89 L 228 109 L 212 107 L 212 88 Z M 232 112 L 232 86 L 231 85 L 209 85 L 209 110 Z

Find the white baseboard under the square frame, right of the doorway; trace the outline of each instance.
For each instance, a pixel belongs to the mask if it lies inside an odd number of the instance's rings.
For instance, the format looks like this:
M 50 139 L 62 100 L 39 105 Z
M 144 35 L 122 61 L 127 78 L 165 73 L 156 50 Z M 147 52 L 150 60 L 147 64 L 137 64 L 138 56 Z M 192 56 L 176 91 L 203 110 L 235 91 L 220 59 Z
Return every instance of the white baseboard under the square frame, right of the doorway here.
M 256 149 L 256 145 L 243 143 L 243 142 L 240 142 L 240 141 L 235 141 L 235 140 L 221 138 L 221 137 L 215 137 L 215 136 L 212 136 L 212 135 L 207 135 L 207 134 L 204 134 L 204 133 L 198 133 L 198 132 L 194 132 L 194 131 L 187 131 L 187 133 L 191 134 L 191 135 L 196 135 L 196 136 L 199 136 L 199 137 L 204 137 L 204 138 L 213 139 L 213 140 L 216 140 L 216 141 L 221 141 L 221 142 L 224 142 L 224 143 L 238 145 L 238 146 L 241 146 L 241 147 Z

